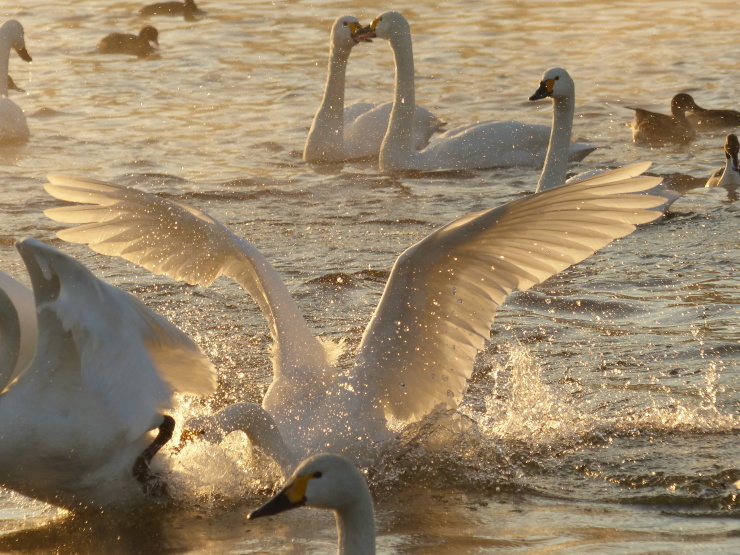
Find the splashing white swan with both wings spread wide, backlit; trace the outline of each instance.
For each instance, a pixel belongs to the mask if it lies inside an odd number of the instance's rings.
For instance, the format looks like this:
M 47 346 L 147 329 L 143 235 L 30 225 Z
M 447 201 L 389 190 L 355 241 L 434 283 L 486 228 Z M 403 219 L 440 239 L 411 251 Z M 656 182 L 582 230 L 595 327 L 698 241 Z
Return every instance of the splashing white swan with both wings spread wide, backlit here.
M 60 231 L 61 239 L 153 272 L 201 285 L 222 274 L 237 280 L 260 306 L 275 342 L 262 407 L 285 444 L 299 457 L 331 450 L 363 460 L 369 445 L 388 437 L 386 418 L 411 422 L 435 407 L 457 406 L 509 293 L 659 217 L 649 209 L 662 197 L 630 194 L 660 182 L 629 178 L 648 166 L 468 214 L 407 249 L 345 372 L 330 364 L 264 256 L 196 208 L 101 181 L 49 176 L 50 194 L 86 204 L 46 214 L 83 224 Z

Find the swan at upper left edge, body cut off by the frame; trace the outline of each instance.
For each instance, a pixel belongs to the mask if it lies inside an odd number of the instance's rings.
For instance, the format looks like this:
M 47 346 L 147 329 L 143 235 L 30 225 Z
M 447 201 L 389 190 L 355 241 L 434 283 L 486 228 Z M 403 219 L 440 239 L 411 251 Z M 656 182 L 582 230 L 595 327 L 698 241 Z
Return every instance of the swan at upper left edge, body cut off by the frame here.
M 9 19 L 0 26 L 0 143 L 22 143 L 31 136 L 23 110 L 8 98 L 8 89 L 14 88 L 8 75 L 11 49 L 22 60 L 32 61 L 26 50 L 23 25 L 15 19 Z

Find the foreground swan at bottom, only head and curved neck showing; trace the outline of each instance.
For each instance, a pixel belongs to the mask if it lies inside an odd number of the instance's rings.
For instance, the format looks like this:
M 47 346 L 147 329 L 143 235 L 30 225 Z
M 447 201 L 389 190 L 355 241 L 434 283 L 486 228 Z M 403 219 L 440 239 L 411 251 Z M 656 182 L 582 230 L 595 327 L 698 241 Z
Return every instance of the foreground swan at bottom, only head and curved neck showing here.
M 298 507 L 334 511 L 339 555 L 374 555 L 373 498 L 365 476 L 347 459 L 328 453 L 306 459 L 280 493 L 247 518 L 253 520 Z

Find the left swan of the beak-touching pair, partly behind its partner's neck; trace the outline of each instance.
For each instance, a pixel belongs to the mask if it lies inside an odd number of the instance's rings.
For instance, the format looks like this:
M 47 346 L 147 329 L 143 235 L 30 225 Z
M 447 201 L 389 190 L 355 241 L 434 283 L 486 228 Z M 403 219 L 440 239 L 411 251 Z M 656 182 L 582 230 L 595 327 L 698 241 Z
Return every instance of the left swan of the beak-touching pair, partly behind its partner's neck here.
M 336 163 L 361 158 L 377 158 L 391 115 L 392 102 L 357 102 L 344 106 L 345 75 L 352 48 L 362 29 L 357 18 L 343 16 L 331 28 L 329 69 L 324 97 L 316 111 L 303 149 L 303 160 L 311 163 Z M 423 148 L 444 122 L 422 106 L 414 109 L 415 149 Z

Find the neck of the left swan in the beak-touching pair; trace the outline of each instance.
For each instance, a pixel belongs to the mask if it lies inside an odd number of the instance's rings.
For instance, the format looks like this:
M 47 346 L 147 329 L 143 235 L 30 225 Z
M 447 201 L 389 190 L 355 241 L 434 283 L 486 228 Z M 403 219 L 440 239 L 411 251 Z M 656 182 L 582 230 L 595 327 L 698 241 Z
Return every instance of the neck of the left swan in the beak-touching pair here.
M 303 159 L 341 161 L 344 158 L 344 86 L 349 53 L 331 52 L 326 87 L 306 139 Z

